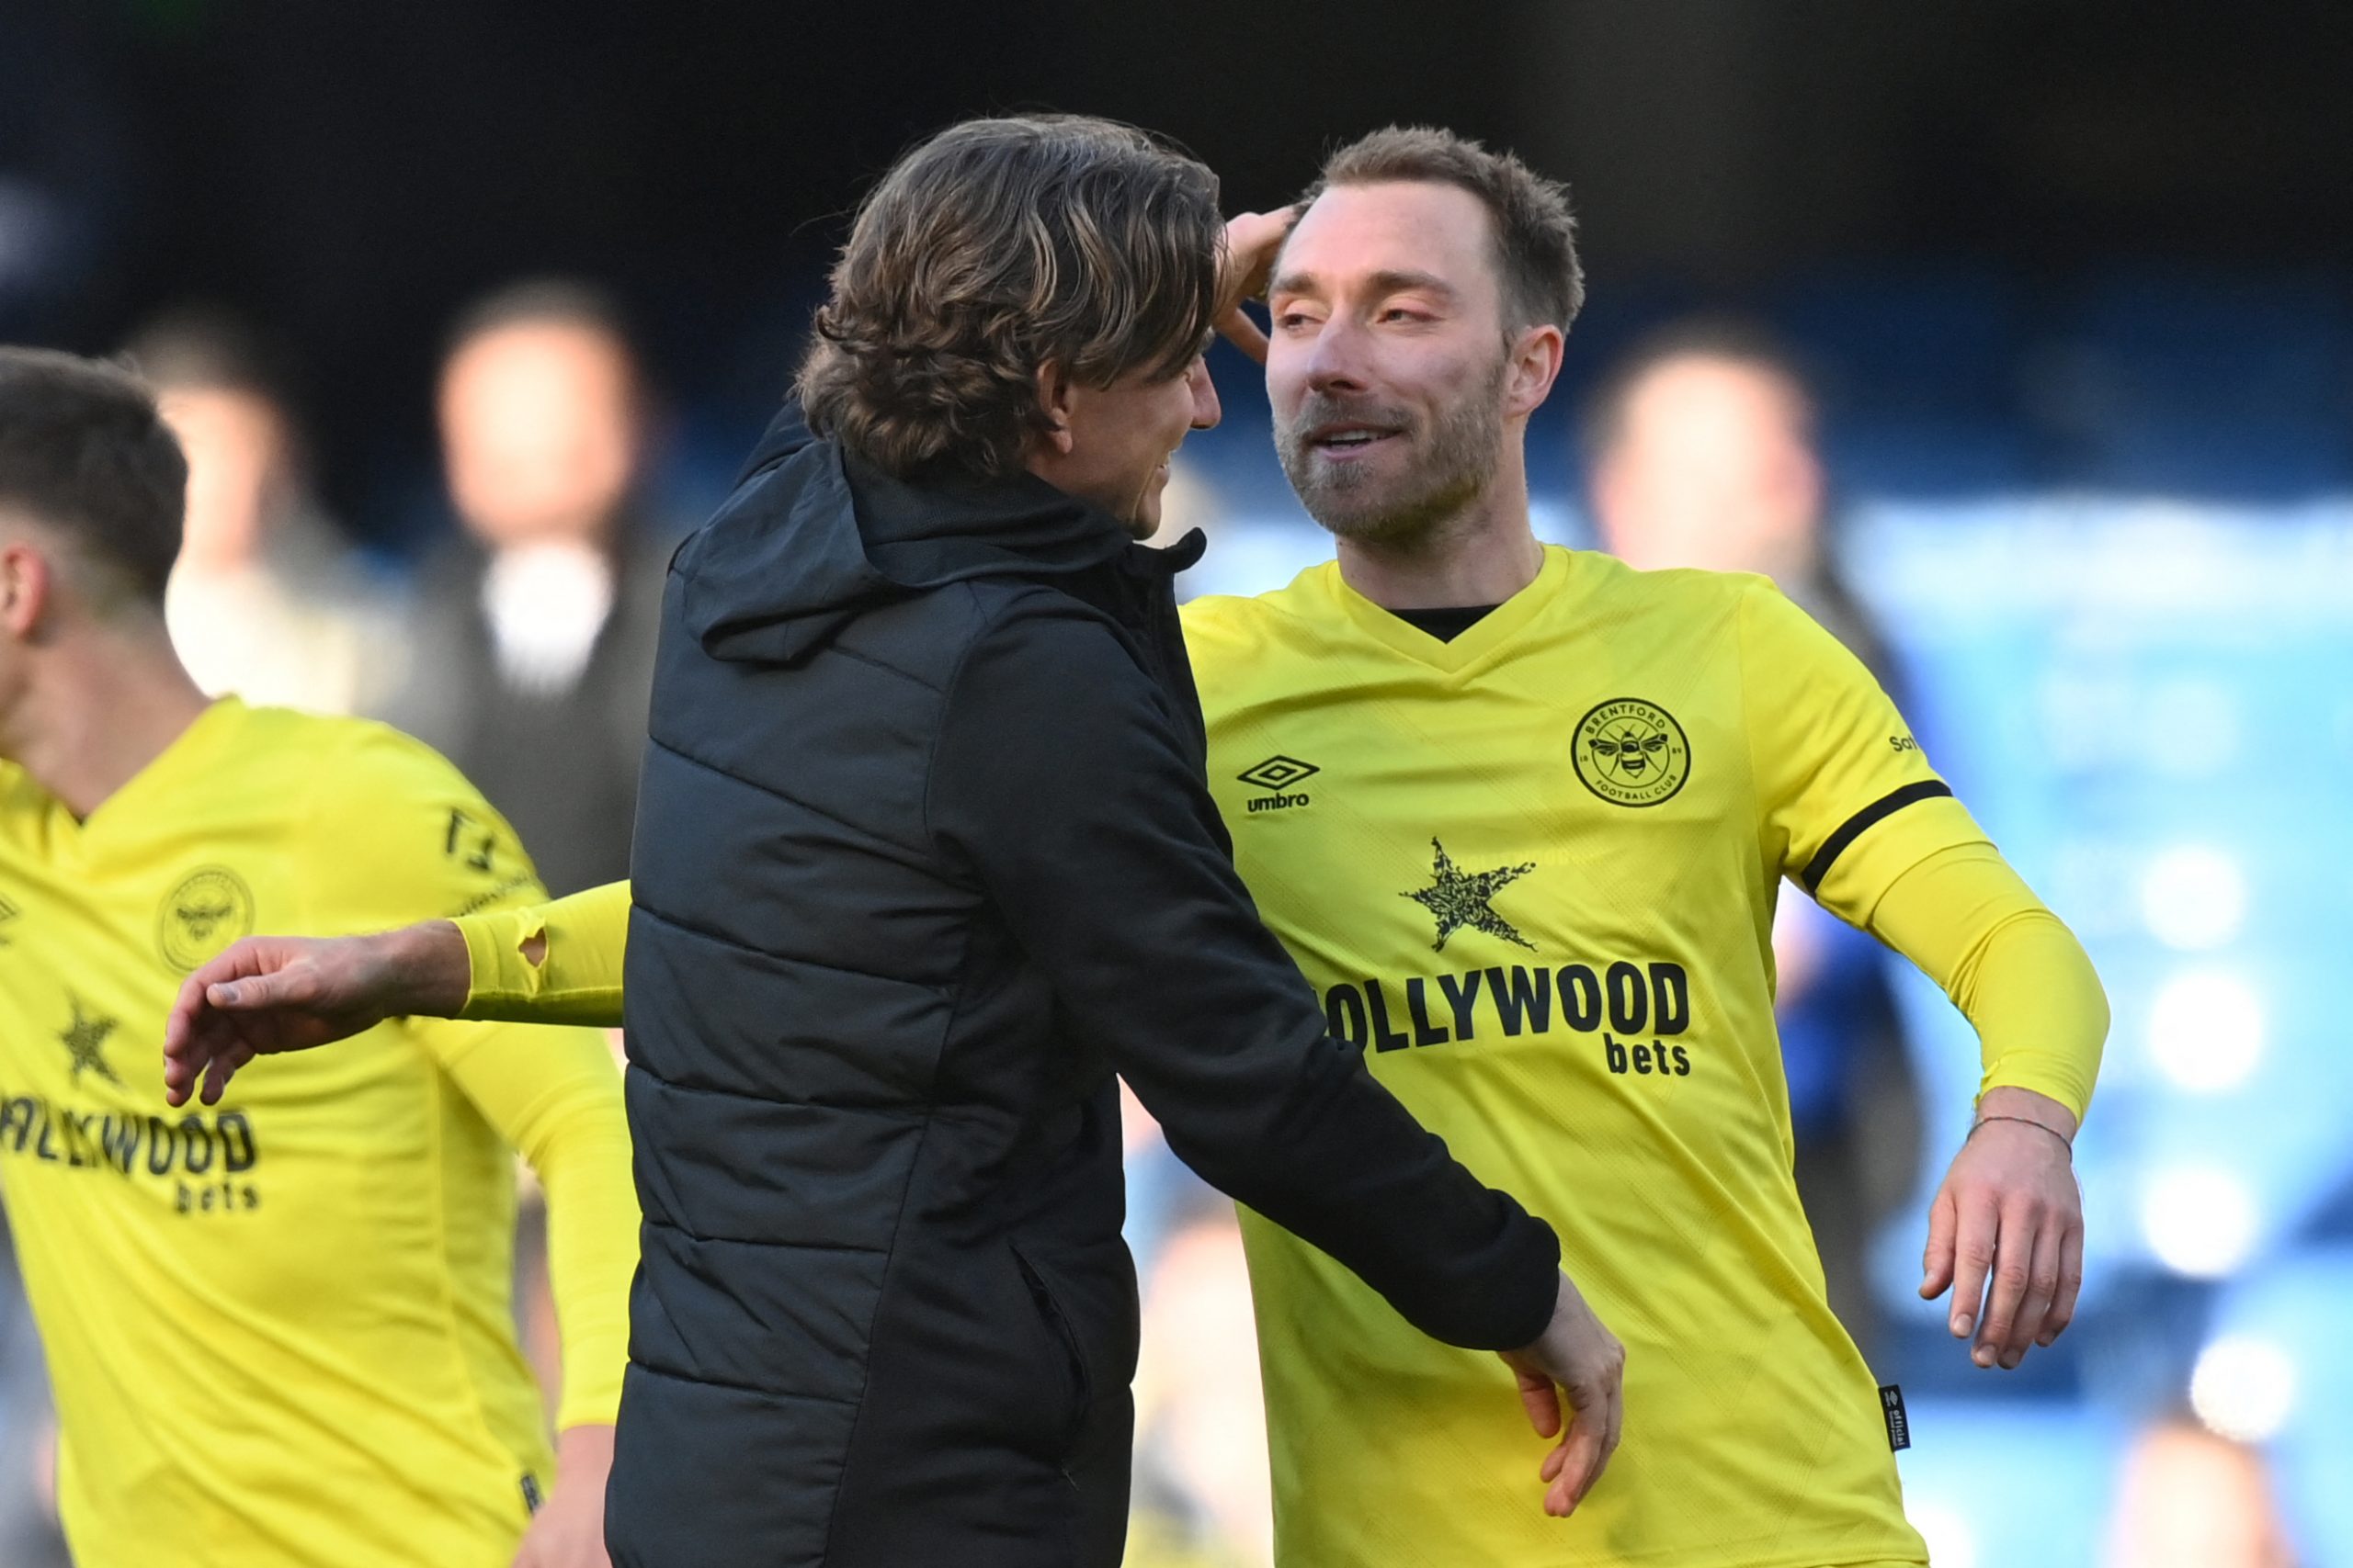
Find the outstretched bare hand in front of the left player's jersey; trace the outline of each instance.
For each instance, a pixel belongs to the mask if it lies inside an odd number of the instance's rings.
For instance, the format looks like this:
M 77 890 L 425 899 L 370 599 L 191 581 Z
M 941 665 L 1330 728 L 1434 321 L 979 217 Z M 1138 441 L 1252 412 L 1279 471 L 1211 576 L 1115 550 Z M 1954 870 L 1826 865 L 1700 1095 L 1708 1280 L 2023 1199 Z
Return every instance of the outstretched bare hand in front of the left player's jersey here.
M 376 936 L 249 936 L 179 987 L 162 1027 L 162 1091 L 214 1105 L 256 1056 L 308 1051 L 409 1013 L 466 1006 L 466 938 L 445 919 Z

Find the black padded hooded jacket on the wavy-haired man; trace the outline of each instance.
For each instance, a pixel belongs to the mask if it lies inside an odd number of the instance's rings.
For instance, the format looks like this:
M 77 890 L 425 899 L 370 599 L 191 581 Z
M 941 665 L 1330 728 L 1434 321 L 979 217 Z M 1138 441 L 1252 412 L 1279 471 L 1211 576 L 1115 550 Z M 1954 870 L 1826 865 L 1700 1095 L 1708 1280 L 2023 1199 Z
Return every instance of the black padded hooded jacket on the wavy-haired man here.
M 1325 1037 L 1233 872 L 1172 595 L 1198 552 L 1038 480 L 894 482 L 788 411 L 673 559 L 621 1568 L 1120 1561 L 1113 1072 L 1424 1331 L 1541 1333 L 1551 1229 Z

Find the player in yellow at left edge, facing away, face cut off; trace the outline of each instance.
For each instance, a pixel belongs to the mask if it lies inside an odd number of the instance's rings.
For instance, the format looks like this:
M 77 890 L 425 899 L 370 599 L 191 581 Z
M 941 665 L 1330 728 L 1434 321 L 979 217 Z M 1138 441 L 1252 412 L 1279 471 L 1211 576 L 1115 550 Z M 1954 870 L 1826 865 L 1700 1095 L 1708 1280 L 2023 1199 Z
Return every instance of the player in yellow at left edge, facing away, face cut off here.
M 184 482 L 134 378 L 0 350 L 0 1194 L 66 1540 L 92 1568 L 602 1568 L 638 1227 L 605 1039 L 388 1023 L 186 1114 L 148 1077 L 181 978 L 256 926 L 544 898 L 424 745 L 202 696 L 162 621 Z M 518 1150 L 548 1192 L 553 1450 Z

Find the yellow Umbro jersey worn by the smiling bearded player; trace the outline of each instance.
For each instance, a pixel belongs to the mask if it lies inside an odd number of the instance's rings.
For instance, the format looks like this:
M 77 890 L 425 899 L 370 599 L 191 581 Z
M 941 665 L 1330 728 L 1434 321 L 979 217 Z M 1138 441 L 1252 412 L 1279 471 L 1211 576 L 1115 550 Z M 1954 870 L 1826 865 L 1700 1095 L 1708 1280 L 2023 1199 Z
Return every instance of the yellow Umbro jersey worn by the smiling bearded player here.
M 1560 1232 L 1626 1342 L 1569 1521 L 1494 1356 L 1245 1215 L 1294 1568 L 1925 1563 L 1791 1180 L 1772 910 L 1847 919 L 1979 842 L 1871 675 L 1772 583 L 1546 548 L 1452 642 L 1337 564 L 1186 607 L 1209 773 L 1332 1032 Z

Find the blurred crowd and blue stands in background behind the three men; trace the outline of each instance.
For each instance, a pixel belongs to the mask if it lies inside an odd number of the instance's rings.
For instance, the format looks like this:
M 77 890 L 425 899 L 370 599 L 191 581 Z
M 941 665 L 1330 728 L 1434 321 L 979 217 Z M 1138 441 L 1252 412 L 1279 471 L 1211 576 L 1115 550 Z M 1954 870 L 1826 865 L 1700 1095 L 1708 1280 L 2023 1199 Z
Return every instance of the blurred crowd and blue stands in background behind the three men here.
M 1913 1284 L 1974 1041 L 1897 959 L 1784 903 L 1800 1187 L 1833 1302 L 1908 1389 L 1915 1521 L 1944 1568 L 2353 1561 L 2332 1420 L 2353 1392 L 2353 1053 L 2320 997 L 2353 900 L 2332 811 L 2353 764 L 2341 282 L 2118 275 L 2049 301 L 1847 275 L 1741 317 L 1692 303 L 1595 301 L 1532 451 L 1539 517 L 1642 567 L 1774 576 L 1901 693 L 2115 999 L 2078 1157 L 2085 1321 L 2017 1375 L 1972 1373 Z M 751 425 L 680 440 L 614 299 L 515 282 L 452 322 L 447 515 L 395 557 L 325 515 L 261 327 L 181 308 L 122 353 L 191 458 L 169 618 L 198 679 L 388 717 L 482 785 L 553 891 L 624 875 L 664 559 L 727 477 L 708 454 Z M 1226 425 L 1188 444 L 1169 529 L 1212 534 L 1191 592 L 1252 592 L 1327 541 L 1282 487 L 1252 367 L 1214 367 Z M 1268 1490 L 1240 1241 L 1129 1112 L 1132 1561 L 1247 1568 Z M 553 1356 L 532 1246 L 518 1276 Z M 0 1561 L 40 1563 L 16 1300 L 0 1347 Z

